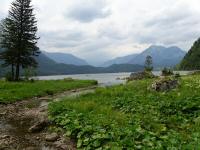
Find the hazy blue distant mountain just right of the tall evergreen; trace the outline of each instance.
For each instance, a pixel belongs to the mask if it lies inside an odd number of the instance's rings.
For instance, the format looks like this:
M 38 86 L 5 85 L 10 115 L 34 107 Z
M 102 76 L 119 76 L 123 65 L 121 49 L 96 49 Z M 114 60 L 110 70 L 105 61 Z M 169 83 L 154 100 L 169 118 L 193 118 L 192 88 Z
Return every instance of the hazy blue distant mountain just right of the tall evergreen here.
M 71 65 L 77 65 L 77 66 L 84 66 L 88 65 L 88 63 L 81 59 L 78 58 L 72 54 L 67 54 L 67 53 L 48 53 L 43 51 L 43 53 L 54 60 L 57 63 L 63 63 L 63 64 L 71 64 Z

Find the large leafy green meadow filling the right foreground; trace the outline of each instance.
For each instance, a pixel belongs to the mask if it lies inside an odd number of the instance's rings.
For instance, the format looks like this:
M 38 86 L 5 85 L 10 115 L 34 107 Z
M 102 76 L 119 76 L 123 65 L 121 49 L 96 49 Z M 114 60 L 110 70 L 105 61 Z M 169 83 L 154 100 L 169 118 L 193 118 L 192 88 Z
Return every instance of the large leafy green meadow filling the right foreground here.
M 50 119 L 78 149 L 198 149 L 200 76 L 183 77 L 177 89 L 162 93 L 149 89 L 153 81 L 51 103 Z

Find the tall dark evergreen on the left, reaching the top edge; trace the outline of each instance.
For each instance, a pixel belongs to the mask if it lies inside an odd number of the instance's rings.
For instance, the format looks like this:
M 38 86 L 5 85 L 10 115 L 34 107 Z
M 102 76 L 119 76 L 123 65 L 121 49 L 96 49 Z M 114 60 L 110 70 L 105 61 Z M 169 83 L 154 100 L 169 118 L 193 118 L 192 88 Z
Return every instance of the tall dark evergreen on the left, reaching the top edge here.
M 4 52 L 0 58 L 4 60 L 4 66 L 11 66 L 13 79 L 19 80 L 20 68 L 36 67 L 35 56 L 40 53 L 37 47 L 37 21 L 31 0 L 12 2 L 1 28 L 0 46 Z

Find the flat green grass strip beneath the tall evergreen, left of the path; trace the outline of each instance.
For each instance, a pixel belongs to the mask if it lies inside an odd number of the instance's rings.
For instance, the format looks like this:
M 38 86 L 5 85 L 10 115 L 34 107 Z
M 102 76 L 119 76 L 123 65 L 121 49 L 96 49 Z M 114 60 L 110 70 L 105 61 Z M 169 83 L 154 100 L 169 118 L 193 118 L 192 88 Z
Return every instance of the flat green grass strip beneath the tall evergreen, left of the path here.
M 87 80 L 49 80 L 31 82 L 0 81 L 0 103 L 12 103 L 32 97 L 53 95 L 65 90 L 83 88 L 96 84 Z

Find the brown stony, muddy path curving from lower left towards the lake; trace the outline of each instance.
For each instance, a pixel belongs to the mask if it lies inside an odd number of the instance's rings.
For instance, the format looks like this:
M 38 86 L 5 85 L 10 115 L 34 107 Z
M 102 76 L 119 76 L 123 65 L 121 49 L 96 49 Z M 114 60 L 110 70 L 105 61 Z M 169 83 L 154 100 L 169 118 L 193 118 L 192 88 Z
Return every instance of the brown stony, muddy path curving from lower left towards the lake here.
M 0 150 L 74 150 L 74 142 L 49 133 L 47 107 L 64 97 L 93 92 L 96 87 L 66 91 L 54 96 L 33 98 L 0 105 Z

